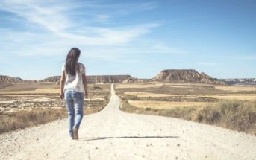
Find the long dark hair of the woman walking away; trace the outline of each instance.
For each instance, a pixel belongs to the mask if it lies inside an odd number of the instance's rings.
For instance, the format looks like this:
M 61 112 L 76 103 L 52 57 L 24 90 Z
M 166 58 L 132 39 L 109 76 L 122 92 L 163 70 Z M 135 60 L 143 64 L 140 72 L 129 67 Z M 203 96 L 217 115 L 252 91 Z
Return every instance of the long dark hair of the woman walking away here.
M 71 48 L 66 56 L 65 71 L 67 74 L 75 75 L 78 58 L 81 51 L 78 48 Z

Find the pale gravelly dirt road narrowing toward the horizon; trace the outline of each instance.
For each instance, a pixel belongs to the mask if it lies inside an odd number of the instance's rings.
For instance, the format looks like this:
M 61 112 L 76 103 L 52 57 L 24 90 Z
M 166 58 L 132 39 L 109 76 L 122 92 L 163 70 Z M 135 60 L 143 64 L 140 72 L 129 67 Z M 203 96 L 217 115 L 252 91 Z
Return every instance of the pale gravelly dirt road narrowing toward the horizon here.
M 219 127 L 119 110 L 84 116 L 78 141 L 67 121 L 0 135 L 0 159 L 256 159 L 256 137 Z

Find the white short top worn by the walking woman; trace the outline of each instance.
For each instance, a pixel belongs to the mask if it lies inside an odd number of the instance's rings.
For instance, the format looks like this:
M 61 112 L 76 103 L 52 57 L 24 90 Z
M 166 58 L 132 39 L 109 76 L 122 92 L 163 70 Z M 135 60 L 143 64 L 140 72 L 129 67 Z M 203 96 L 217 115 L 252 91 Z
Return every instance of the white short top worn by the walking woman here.
M 78 65 L 79 71 L 76 71 L 76 74 L 74 76 L 71 74 L 66 74 L 65 63 L 62 65 L 61 71 L 65 71 L 66 75 L 64 90 L 69 89 L 75 92 L 84 92 L 82 74 L 85 74 L 85 67 L 82 63 L 78 63 Z

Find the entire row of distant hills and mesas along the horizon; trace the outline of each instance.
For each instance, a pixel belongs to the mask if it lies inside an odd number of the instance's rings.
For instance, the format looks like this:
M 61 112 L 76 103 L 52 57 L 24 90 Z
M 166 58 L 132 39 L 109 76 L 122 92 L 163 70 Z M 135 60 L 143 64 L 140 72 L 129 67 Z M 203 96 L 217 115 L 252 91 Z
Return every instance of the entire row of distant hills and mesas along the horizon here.
M 256 85 L 256 78 L 247 79 L 216 79 L 204 72 L 199 73 L 194 69 L 166 69 L 160 71 L 152 79 L 140 79 L 131 75 L 90 75 L 87 76 L 88 83 L 143 83 L 149 81 L 163 81 L 175 83 L 210 83 L 229 85 Z M 22 80 L 20 77 L 9 77 L 0 75 L 0 84 L 11 83 L 60 83 L 60 76 L 47 77 L 43 80 Z

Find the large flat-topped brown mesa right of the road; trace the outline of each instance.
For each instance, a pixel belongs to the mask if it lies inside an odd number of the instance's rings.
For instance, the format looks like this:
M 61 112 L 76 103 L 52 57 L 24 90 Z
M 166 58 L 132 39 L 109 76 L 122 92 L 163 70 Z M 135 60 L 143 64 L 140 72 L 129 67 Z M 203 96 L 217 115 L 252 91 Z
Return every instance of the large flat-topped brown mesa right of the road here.
M 166 82 L 211 83 L 224 84 L 222 81 L 200 74 L 195 69 L 166 69 L 157 74 L 153 80 Z

